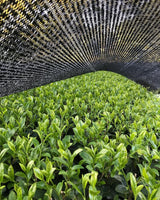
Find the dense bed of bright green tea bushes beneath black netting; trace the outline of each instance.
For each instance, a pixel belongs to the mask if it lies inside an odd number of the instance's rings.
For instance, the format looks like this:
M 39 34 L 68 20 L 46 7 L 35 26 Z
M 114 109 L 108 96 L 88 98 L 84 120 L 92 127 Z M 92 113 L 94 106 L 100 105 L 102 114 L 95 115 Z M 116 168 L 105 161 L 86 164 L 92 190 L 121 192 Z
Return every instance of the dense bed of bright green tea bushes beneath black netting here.
M 159 200 L 160 99 L 109 72 L 0 98 L 0 199 Z

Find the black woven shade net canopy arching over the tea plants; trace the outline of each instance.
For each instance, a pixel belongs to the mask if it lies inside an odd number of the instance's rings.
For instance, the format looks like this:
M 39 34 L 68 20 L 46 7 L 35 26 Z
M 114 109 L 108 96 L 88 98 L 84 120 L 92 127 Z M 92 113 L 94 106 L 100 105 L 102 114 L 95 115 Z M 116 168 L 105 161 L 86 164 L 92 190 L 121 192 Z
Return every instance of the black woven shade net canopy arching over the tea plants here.
M 0 1 L 0 96 L 97 70 L 160 88 L 160 0 Z

